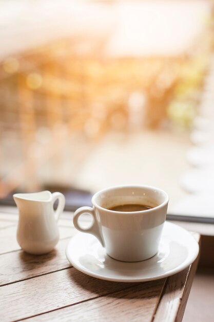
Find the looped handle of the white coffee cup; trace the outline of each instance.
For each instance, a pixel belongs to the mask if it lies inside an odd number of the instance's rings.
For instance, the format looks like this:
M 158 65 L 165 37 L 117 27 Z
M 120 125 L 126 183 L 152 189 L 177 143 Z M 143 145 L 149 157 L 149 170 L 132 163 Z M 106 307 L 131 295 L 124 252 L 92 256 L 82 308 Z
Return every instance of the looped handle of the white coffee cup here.
M 82 214 L 90 214 L 91 217 L 93 218 L 93 222 L 90 227 L 84 228 L 79 225 L 78 219 Z M 105 247 L 104 240 L 102 237 L 102 232 L 101 232 L 100 227 L 98 225 L 98 221 L 96 220 L 93 208 L 81 207 L 81 208 L 77 209 L 73 215 L 73 225 L 76 229 L 78 229 L 82 232 L 88 232 L 88 234 L 92 234 L 93 236 L 95 236 L 101 242 L 102 246 Z

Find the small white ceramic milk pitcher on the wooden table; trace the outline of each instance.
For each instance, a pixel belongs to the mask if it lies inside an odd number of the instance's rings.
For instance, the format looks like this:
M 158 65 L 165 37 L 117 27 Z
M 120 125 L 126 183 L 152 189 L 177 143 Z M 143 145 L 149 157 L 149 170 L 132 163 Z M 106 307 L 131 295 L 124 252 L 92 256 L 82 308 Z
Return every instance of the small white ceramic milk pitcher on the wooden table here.
M 13 195 L 19 210 L 17 242 L 25 252 L 46 254 L 59 241 L 57 221 L 65 207 L 65 196 L 60 192 L 42 191 Z M 59 199 L 57 209 L 54 202 Z

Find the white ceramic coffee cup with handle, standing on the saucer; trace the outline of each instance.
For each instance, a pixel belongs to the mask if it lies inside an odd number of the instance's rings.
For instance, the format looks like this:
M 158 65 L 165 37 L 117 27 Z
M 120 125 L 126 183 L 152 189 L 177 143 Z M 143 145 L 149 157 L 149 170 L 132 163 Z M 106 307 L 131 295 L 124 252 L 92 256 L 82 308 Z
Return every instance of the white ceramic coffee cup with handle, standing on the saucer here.
M 152 208 L 131 212 L 108 209 L 123 204 Z M 168 205 L 165 191 L 150 186 L 116 186 L 95 193 L 92 205 L 93 208 L 81 207 L 75 211 L 74 227 L 98 238 L 110 257 L 134 262 L 146 260 L 158 252 Z M 88 228 L 78 222 L 86 213 L 93 218 Z

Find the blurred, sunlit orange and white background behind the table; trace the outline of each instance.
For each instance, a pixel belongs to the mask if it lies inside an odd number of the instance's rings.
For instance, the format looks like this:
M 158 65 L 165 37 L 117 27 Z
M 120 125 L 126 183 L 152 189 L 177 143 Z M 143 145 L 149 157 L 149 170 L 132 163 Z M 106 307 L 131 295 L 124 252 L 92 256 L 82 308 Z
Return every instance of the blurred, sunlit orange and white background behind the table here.
M 147 184 L 169 213 L 214 218 L 213 14 L 211 0 L 1 0 L 1 203 L 48 189 L 75 209 Z

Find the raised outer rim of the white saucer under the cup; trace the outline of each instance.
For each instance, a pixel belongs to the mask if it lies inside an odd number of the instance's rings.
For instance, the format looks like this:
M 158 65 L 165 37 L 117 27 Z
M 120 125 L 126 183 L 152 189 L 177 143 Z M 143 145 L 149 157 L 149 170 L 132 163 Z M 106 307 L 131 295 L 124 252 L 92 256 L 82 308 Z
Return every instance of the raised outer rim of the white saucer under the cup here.
M 153 281 L 153 280 L 158 280 L 158 279 L 162 279 L 162 278 L 166 278 L 166 277 L 169 277 L 169 276 L 172 276 L 174 274 L 177 274 L 179 272 L 182 272 L 183 270 L 185 270 L 190 264 L 192 264 L 194 262 L 194 260 L 196 260 L 198 254 L 199 254 L 199 243 L 197 242 L 196 239 L 194 239 L 194 237 L 190 234 L 190 232 L 186 229 L 184 229 L 183 227 L 179 226 L 179 225 L 176 225 L 176 224 L 173 224 L 171 222 L 165 222 L 164 225 L 167 225 L 167 226 L 176 226 L 176 228 L 178 229 L 181 229 L 183 231 L 185 231 L 185 234 L 189 234 L 189 236 L 192 238 L 192 241 L 193 243 L 195 243 L 195 249 L 194 249 L 194 253 L 192 251 L 192 256 L 188 259 L 185 259 L 183 263 L 179 264 L 176 268 L 174 269 L 171 269 L 169 271 L 167 271 L 166 273 L 164 274 L 161 274 L 161 275 L 154 275 L 154 276 L 151 276 L 151 277 L 141 277 L 141 278 L 134 278 L 134 277 L 131 277 L 131 278 L 118 278 L 118 277 L 111 277 L 111 276 L 107 276 L 107 275 L 100 275 L 100 274 L 96 274 L 88 269 L 84 269 L 82 268 L 82 266 L 79 266 L 79 265 L 76 265 L 75 262 L 73 263 L 72 260 L 69 259 L 69 255 L 68 255 L 68 252 L 69 252 L 69 248 L 70 248 L 70 244 L 73 242 L 73 238 L 75 238 L 76 236 L 80 236 L 82 235 L 83 233 L 77 233 L 76 235 L 74 235 L 70 241 L 68 242 L 67 246 L 66 246 L 66 257 L 67 257 L 67 260 L 68 262 L 78 271 L 86 274 L 86 275 L 89 275 L 91 277 L 95 277 L 95 278 L 98 278 L 98 279 L 102 279 L 102 280 L 107 280 L 107 281 L 113 281 L 113 282 L 129 282 L 129 283 L 133 283 L 133 282 L 147 282 L 147 281 Z M 168 227 L 167 227 L 168 228 Z M 169 229 L 169 228 L 168 228 Z M 98 241 L 99 242 L 99 241 Z M 101 246 L 102 247 L 102 246 Z M 187 249 L 188 249 L 188 253 L 189 253 L 189 248 L 188 246 L 186 246 Z M 155 255 L 154 255 L 155 256 Z M 109 256 L 110 257 L 110 256 Z M 110 257 L 111 258 L 111 257 Z M 112 260 L 115 260 L 113 258 L 111 258 Z M 147 259 L 147 260 L 150 260 L 151 258 Z M 145 260 L 145 261 L 147 261 Z M 124 265 L 128 264 L 129 262 L 123 262 Z

